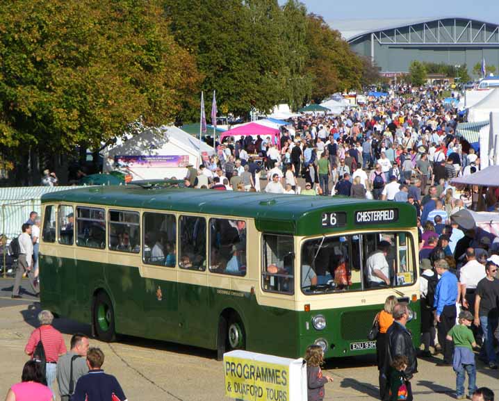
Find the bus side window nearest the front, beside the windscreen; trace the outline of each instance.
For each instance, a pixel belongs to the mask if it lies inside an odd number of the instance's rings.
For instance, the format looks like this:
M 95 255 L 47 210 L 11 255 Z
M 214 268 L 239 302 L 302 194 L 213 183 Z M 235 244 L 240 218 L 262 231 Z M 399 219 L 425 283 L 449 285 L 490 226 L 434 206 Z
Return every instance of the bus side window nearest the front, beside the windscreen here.
M 263 235 L 262 287 L 275 293 L 294 293 L 295 247 L 292 236 Z

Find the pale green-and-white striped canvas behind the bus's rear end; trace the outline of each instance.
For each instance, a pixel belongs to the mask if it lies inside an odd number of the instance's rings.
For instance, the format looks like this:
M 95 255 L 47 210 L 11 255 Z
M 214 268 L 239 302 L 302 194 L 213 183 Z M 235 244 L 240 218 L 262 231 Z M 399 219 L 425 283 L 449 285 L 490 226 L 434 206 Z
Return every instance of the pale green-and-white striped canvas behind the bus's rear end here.
M 32 211 L 38 214 L 42 213 L 41 199 L 46 193 L 56 192 L 59 190 L 74 189 L 74 186 L 33 186 L 33 187 L 16 187 L 16 188 L 0 188 L 0 234 L 3 241 L 2 260 L 0 264 L 3 266 L 3 276 L 6 275 L 7 267 L 7 252 L 6 244 L 9 240 L 19 236 L 21 233 L 22 224 L 29 218 L 29 213 Z

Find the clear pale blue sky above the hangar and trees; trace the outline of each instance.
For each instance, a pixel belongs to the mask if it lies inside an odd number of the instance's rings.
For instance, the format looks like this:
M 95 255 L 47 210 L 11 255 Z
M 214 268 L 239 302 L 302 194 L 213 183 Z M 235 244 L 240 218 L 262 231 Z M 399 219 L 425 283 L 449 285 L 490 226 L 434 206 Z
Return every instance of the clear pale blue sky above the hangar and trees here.
M 337 19 L 468 17 L 499 24 L 497 0 L 301 0 L 326 22 Z M 279 3 L 285 3 L 279 0 Z

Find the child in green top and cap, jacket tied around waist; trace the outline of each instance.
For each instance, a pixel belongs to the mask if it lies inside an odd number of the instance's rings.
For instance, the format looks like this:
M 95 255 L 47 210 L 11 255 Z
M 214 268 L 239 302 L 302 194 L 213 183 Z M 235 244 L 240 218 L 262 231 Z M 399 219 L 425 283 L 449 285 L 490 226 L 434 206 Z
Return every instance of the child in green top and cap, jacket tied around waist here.
M 470 311 L 459 313 L 459 325 L 452 327 L 447 334 L 448 341 L 454 341 L 454 360 L 452 368 L 456 377 L 456 398 L 464 400 L 464 379 L 466 379 L 465 370 L 468 372 L 468 396 L 471 398 L 476 390 L 477 370 L 475 368 L 475 354 L 473 347 L 476 347 L 473 332 L 468 327 L 473 322 L 473 315 Z

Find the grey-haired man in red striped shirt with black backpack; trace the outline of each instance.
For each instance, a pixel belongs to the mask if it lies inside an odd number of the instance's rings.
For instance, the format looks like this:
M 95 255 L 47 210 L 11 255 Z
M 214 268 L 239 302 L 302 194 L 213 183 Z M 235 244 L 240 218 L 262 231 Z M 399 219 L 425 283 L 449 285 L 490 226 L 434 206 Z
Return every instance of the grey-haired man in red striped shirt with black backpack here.
M 54 380 L 56 379 L 57 361 L 59 357 L 66 353 L 66 345 L 63 335 L 52 326 L 54 315 L 51 311 L 41 311 L 38 313 L 40 327 L 34 329 L 29 337 L 24 352 L 31 358 L 45 363 L 45 377 L 47 377 L 47 386 L 50 387 L 54 399 Z

